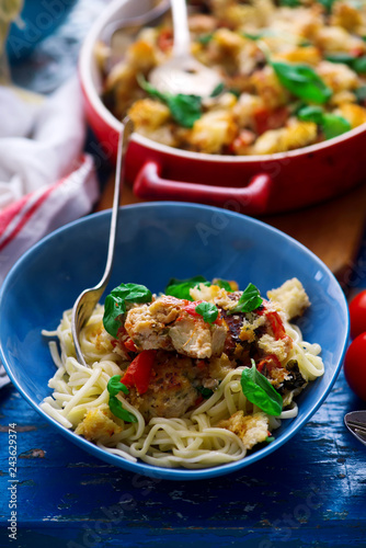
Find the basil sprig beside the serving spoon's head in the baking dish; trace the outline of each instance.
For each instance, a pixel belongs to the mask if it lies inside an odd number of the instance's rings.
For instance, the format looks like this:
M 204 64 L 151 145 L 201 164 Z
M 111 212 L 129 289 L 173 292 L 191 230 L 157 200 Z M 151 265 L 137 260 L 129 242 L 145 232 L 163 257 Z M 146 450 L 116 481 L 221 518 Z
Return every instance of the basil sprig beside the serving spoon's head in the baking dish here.
M 202 99 L 198 95 L 186 95 L 178 93 L 161 93 L 147 82 L 142 77 L 138 78 L 140 87 L 149 93 L 165 103 L 174 121 L 183 127 L 192 128 L 196 119 L 202 116 Z

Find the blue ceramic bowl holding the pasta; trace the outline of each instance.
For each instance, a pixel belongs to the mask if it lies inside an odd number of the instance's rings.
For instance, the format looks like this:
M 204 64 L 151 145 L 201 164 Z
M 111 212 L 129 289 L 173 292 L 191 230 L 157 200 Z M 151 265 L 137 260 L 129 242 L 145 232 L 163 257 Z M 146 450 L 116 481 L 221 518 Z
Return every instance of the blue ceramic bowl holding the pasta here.
M 1 359 L 24 398 L 68 439 L 115 466 L 175 480 L 210 478 L 239 470 L 271 454 L 317 411 L 341 368 L 348 336 L 347 305 L 324 264 L 304 246 L 255 219 L 215 207 L 155 203 L 122 208 L 111 290 L 122 282 L 163 290 L 170 277 L 202 274 L 208 279 L 254 283 L 262 294 L 297 276 L 312 306 L 301 321 L 306 340 L 322 346 L 325 374 L 297 399 L 299 414 L 284 420 L 275 442 L 243 460 L 202 470 L 164 469 L 131 464 L 104 453 L 59 425 L 39 403 L 55 366 L 41 330 L 55 329 L 85 287 L 102 276 L 111 212 L 72 222 L 36 244 L 14 265 L 0 293 Z

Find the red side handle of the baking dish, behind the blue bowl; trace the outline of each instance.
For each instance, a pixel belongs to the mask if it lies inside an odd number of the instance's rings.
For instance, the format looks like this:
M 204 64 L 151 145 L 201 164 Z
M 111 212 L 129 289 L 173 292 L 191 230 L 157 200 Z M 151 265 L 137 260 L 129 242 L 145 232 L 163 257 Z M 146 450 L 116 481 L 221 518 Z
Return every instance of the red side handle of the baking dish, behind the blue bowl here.
M 209 186 L 161 178 L 161 165 L 146 162 L 137 174 L 134 193 L 142 199 L 195 202 L 259 215 L 267 209 L 272 180 L 266 173 L 254 175 L 248 186 Z

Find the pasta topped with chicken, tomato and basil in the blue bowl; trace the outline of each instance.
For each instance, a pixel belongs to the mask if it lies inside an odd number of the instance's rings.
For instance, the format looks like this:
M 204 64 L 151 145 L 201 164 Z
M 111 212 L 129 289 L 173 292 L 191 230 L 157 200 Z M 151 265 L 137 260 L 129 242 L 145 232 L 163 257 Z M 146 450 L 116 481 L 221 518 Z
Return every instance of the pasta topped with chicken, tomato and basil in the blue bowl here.
M 319 344 L 290 323 L 310 305 L 296 278 L 263 299 L 249 284 L 172 281 L 164 295 L 122 284 L 81 332 L 71 311 L 49 342 L 57 370 L 42 408 L 67 429 L 130 461 L 203 468 L 242 459 L 323 374 Z M 142 289 L 141 289 L 142 288 Z M 110 332 L 108 332 L 110 331 Z

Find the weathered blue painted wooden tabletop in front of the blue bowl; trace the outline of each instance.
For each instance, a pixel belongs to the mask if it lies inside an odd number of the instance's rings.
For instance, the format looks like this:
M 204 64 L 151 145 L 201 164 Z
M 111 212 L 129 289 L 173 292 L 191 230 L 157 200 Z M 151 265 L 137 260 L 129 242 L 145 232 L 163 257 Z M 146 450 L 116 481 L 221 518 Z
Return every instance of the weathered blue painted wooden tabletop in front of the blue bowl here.
M 311 422 L 273 455 L 240 473 L 186 483 L 96 460 L 10 386 L 0 406 L 0 546 L 366 546 L 366 450 L 343 425 L 362 402 L 343 373 Z M 18 442 L 13 544 L 9 423 L 16 423 Z

